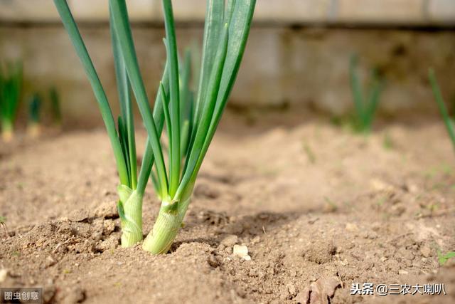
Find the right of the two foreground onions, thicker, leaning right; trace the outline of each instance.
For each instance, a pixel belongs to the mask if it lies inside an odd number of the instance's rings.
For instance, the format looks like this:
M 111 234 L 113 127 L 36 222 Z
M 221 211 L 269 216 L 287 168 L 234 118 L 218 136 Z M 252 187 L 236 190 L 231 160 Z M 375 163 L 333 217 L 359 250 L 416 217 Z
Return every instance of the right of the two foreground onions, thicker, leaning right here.
M 180 90 L 176 31 L 171 0 L 163 0 L 167 53 L 168 88 L 160 85 L 169 140 L 168 170 L 164 163 L 154 117 L 148 108 L 144 82 L 124 0 L 110 0 L 114 28 L 128 78 L 136 97 L 156 159 L 152 174 L 161 199 L 161 209 L 143 248 L 166 253 L 186 214 L 200 166 L 220 122 L 235 83 L 250 32 L 255 0 L 208 0 L 203 37 L 203 56 L 196 99 L 191 103 Z

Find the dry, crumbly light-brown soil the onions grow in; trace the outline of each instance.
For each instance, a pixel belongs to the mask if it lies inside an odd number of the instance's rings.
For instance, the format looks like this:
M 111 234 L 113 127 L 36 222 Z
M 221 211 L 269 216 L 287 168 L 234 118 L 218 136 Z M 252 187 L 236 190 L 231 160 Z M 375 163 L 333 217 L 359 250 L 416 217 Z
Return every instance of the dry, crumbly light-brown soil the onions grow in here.
M 119 246 L 105 130 L 2 144 L 0 286 L 43 287 L 45 303 L 455 303 L 455 263 L 438 261 L 455 248 L 441 122 L 364 137 L 318 119 L 238 120 L 224 120 L 161 256 Z M 149 186 L 144 234 L 158 208 Z M 444 283 L 447 295 L 350 295 L 353 283 Z

